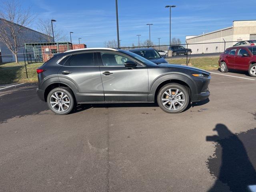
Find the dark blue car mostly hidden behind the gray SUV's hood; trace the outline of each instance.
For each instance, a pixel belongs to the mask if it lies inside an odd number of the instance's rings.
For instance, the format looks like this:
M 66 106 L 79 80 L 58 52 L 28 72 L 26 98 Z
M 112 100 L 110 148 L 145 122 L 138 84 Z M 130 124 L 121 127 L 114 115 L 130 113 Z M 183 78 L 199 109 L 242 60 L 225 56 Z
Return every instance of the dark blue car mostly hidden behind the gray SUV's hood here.
M 130 52 L 136 53 L 155 64 L 168 63 L 158 52 L 153 48 L 141 48 L 141 49 L 131 49 Z

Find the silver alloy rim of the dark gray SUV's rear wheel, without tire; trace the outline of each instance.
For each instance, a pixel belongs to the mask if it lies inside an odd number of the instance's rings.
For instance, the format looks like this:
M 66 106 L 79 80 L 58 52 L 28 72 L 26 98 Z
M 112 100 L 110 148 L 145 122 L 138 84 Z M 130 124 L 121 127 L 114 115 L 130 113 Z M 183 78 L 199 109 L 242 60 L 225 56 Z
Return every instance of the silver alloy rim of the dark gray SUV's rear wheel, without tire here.
M 64 112 L 70 106 L 70 99 L 64 92 L 54 92 L 50 97 L 50 105 L 55 111 Z

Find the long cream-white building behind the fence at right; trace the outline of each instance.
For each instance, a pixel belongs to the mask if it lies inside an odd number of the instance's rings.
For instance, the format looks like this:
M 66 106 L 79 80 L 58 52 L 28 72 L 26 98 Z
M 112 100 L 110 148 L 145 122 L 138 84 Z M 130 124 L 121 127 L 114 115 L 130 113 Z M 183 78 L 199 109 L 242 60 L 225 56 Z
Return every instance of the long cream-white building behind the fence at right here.
M 256 20 L 233 21 L 231 27 L 198 36 L 186 36 L 188 48 L 192 49 L 193 54 L 223 52 L 224 48 L 236 44 L 235 41 L 246 40 L 256 40 Z

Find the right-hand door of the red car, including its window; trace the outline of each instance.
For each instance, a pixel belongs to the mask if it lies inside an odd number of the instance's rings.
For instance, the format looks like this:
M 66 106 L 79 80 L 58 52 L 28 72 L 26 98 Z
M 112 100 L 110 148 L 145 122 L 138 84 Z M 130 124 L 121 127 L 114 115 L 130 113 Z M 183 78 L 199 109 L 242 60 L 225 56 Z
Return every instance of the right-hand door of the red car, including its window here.
M 244 54 L 247 54 L 248 56 L 244 56 Z M 235 68 L 239 70 L 248 70 L 250 58 L 251 56 L 246 48 L 238 48 L 235 56 Z

